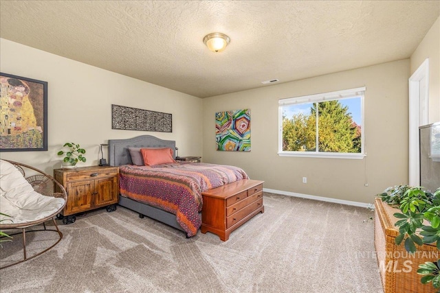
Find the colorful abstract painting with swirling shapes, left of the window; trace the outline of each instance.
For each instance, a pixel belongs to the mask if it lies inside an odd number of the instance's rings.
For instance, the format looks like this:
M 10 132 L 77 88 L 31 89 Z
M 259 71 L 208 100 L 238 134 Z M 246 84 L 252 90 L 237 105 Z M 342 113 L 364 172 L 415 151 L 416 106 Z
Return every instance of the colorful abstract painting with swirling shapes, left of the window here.
M 215 113 L 217 150 L 250 152 L 250 109 Z

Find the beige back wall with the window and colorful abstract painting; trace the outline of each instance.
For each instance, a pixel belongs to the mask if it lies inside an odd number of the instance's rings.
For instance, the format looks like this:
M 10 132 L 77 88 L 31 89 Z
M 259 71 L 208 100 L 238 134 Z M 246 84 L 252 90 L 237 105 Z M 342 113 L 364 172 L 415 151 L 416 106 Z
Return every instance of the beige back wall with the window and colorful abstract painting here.
M 408 182 L 409 73 L 406 59 L 203 99 L 203 161 L 243 167 L 267 189 L 373 202 L 386 187 Z M 360 86 L 366 86 L 365 159 L 278 156 L 278 99 Z M 241 108 L 251 110 L 251 152 L 217 151 L 215 113 Z

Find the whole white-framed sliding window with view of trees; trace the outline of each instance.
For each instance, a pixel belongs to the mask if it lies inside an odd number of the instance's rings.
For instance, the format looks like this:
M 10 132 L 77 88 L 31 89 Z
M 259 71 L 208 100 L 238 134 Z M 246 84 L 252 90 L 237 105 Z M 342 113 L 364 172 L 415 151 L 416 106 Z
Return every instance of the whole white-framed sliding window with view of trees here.
M 280 156 L 362 159 L 364 91 L 349 89 L 280 99 Z

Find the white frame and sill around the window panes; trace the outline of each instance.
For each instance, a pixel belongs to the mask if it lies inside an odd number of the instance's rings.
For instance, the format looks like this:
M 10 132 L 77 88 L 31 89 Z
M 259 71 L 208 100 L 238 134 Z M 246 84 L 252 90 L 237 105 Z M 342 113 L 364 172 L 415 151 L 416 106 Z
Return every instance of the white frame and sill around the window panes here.
M 365 147 L 365 124 L 364 124 L 364 92 L 366 87 L 356 89 L 347 89 L 343 91 L 332 91 L 329 93 L 318 93 L 315 95 L 305 95 L 301 97 L 288 97 L 278 100 L 278 156 L 302 156 L 311 158 L 333 158 L 333 159 L 364 159 L 366 156 Z M 283 106 L 293 104 L 304 104 L 314 102 L 332 101 L 336 99 L 344 99 L 350 97 L 360 97 L 361 103 L 361 152 L 297 152 L 283 150 Z M 318 146 L 318 144 L 317 144 Z

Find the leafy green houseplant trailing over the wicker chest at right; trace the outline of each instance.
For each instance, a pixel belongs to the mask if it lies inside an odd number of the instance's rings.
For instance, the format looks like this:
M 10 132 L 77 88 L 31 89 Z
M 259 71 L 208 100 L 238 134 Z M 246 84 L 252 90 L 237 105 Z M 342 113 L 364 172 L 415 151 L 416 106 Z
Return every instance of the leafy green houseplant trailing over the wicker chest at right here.
M 440 250 L 440 188 L 432 194 L 422 187 L 397 185 L 377 196 L 401 211 L 394 213 L 395 218 L 400 219 L 395 223 L 399 229 L 395 244 L 404 242 L 408 253 L 416 252 L 415 244 L 435 244 Z M 417 274 L 423 276 L 421 283 L 432 283 L 440 292 L 440 259 L 419 264 Z

